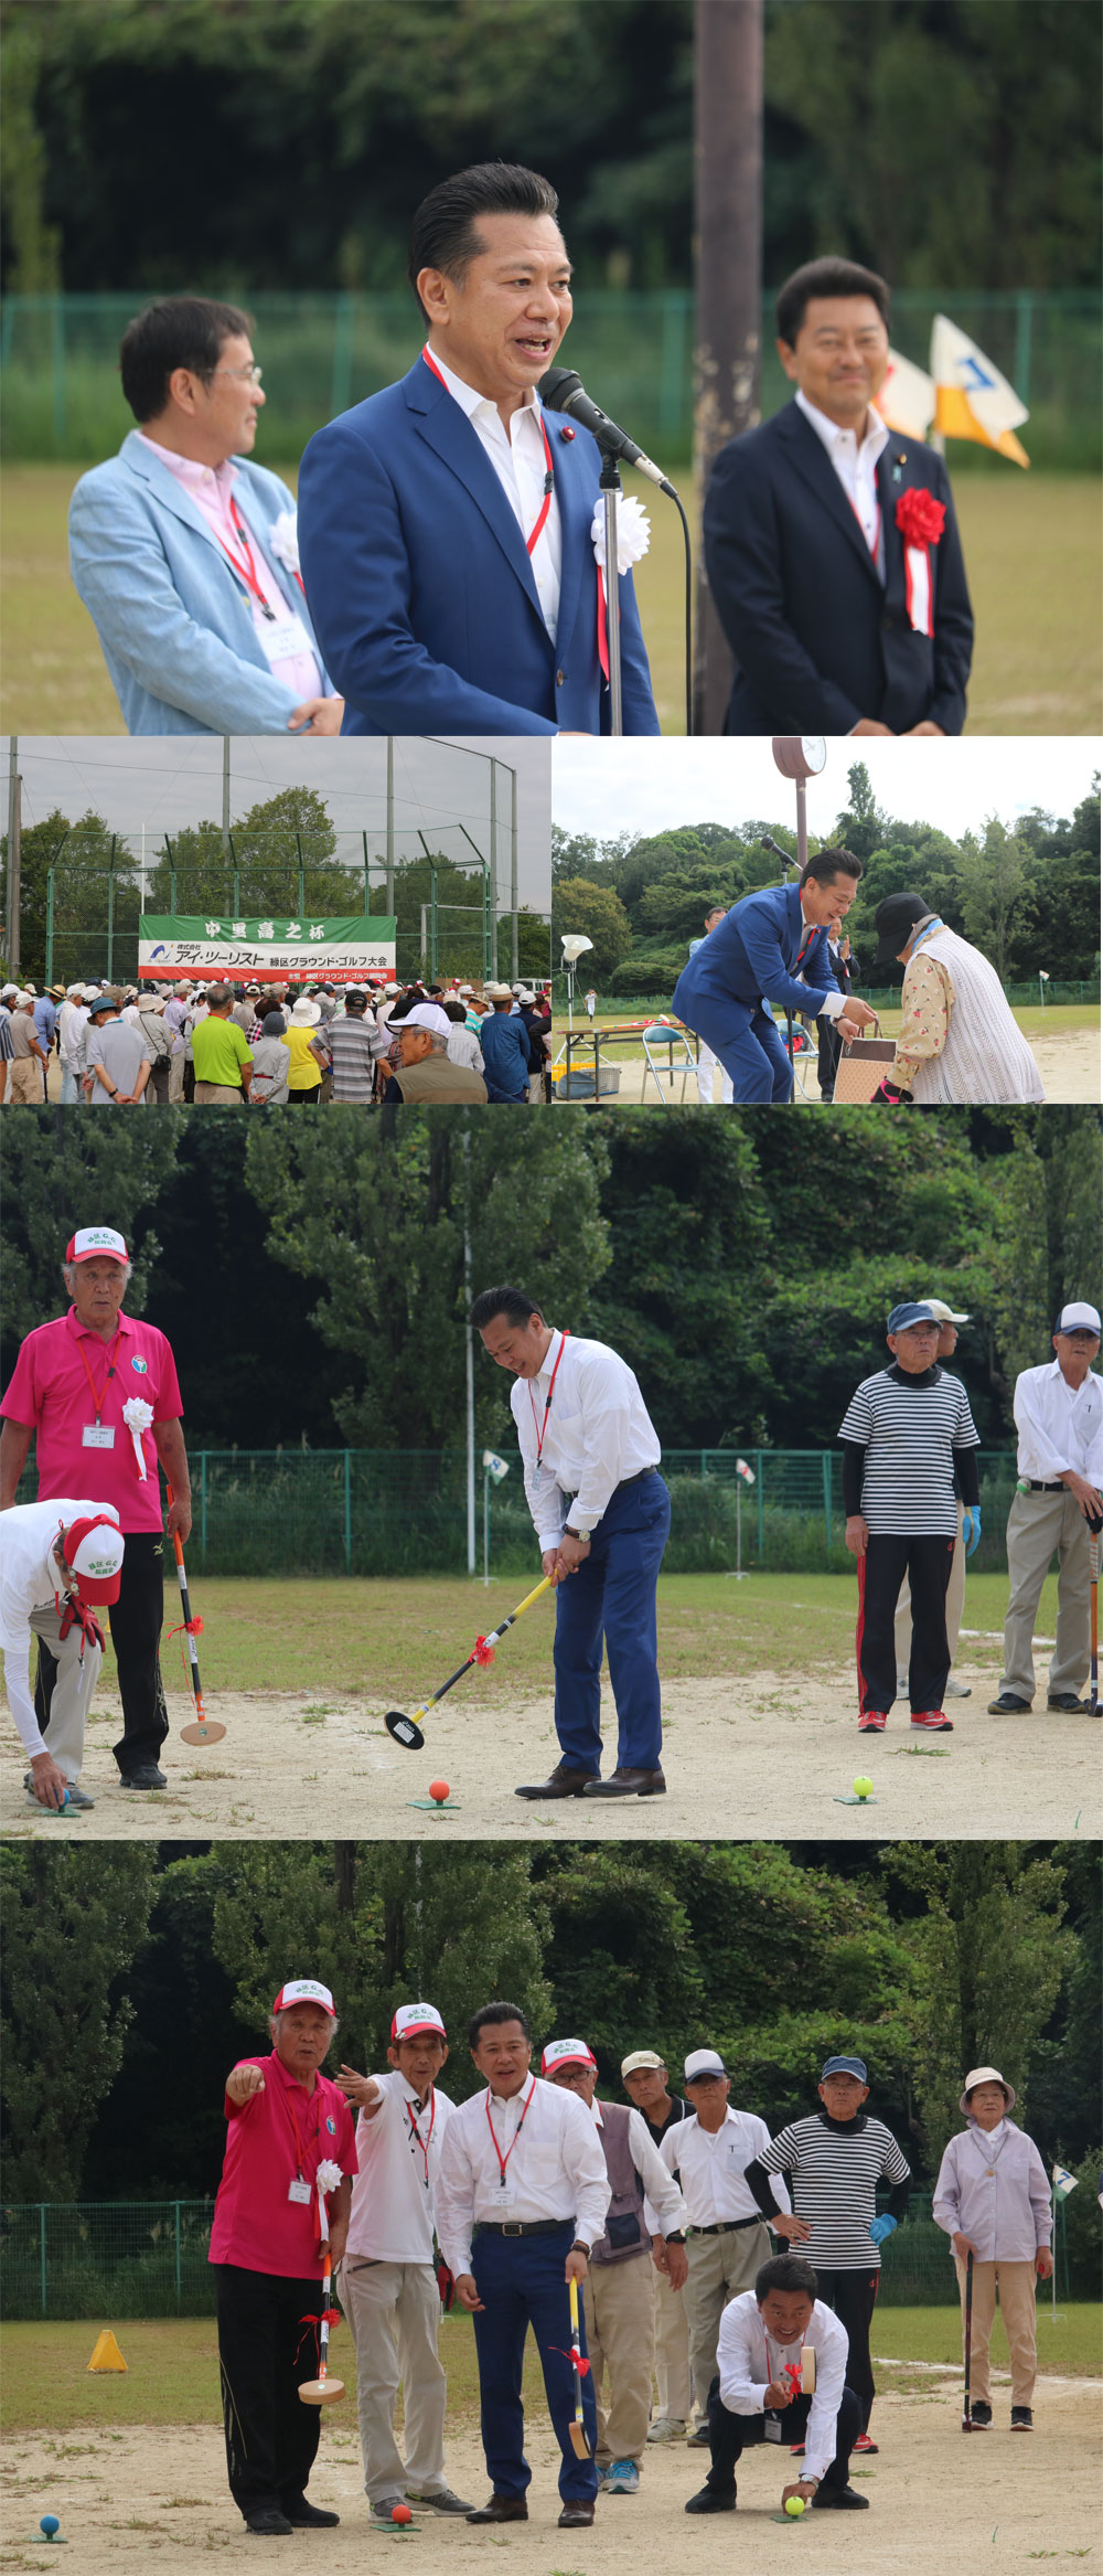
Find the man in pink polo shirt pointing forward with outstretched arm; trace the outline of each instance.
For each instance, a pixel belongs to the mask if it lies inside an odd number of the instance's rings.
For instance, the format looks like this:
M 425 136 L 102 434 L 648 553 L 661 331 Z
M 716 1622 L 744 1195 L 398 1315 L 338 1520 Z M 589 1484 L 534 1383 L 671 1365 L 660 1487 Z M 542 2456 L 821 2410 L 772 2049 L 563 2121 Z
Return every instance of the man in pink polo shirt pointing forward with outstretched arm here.
M 356 2164 L 353 2115 L 322 2063 L 338 2035 L 332 1994 L 317 1976 L 281 1986 L 271 2056 L 240 2058 L 227 2076 L 227 2156 L 214 2202 L 219 2275 L 222 2416 L 229 2494 L 263 2540 L 340 2514 L 307 2504 L 320 2409 L 299 2398 L 317 2375 L 322 2246 L 332 2267 L 348 2236 Z

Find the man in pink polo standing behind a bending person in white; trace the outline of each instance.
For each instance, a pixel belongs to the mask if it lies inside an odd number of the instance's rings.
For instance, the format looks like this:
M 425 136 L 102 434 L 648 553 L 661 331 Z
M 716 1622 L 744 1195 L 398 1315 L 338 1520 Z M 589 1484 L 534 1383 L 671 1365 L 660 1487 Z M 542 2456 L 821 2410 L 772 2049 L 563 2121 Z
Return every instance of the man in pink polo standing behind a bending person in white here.
M 168 1736 L 160 1680 L 165 1615 L 165 1538 L 157 1463 L 173 1486 L 168 1530 L 188 1538 L 191 1479 L 180 1430 L 180 1386 L 165 1334 L 124 1314 L 131 1260 L 113 1226 L 80 1226 L 62 1278 L 72 1306 L 28 1332 L 0 1414 L 0 1512 L 15 1502 L 31 1437 L 39 1502 L 90 1494 L 113 1504 L 126 1538 L 111 1643 L 119 1664 L 124 1731 L 113 1747 L 124 1788 L 165 1788 L 157 1767 Z M 49 1721 L 54 1664 L 39 1641 L 39 1723 Z

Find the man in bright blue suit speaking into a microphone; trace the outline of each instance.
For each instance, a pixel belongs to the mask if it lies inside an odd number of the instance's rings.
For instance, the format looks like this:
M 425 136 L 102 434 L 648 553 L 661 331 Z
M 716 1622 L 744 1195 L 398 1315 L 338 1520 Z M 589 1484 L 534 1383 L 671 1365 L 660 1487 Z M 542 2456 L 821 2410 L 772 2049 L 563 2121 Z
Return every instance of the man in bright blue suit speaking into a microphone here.
M 433 188 L 410 240 L 425 348 L 302 459 L 302 569 L 345 734 L 608 732 L 600 456 L 536 397 L 572 312 L 557 206 L 510 162 Z M 657 734 L 631 574 L 619 592 L 624 732 Z

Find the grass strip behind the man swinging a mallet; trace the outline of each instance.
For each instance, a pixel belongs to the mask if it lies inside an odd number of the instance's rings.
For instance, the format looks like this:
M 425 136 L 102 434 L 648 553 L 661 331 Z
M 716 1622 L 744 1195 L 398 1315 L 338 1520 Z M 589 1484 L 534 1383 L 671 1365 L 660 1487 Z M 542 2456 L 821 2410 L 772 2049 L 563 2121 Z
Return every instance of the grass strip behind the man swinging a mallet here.
M 206 1579 L 196 1548 L 188 1551 L 188 1584 L 204 1620 L 206 1692 L 309 1690 L 320 1710 L 332 1692 L 387 1692 L 402 1708 L 428 1677 L 443 1680 L 472 1651 L 477 1633 L 487 1633 L 528 1589 L 523 1577 L 492 1577 L 487 1592 L 466 1577 Z M 660 1582 L 660 1669 L 667 1682 L 827 1669 L 850 1649 L 856 1602 L 848 1574 L 750 1574 L 742 1584 L 727 1574 L 670 1574 Z M 972 1646 L 972 1656 L 990 1651 L 995 1669 L 1005 1607 L 1005 1574 L 969 1574 L 966 1628 L 992 1633 L 992 1646 Z M 799 1623 L 794 1613 L 801 1613 Z M 1054 1618 L 1057 1579 L 1049 1577 L 1039 1636 L 1054 1633 Z M 479 1672 L 479 1700 L 510 1708 L 546 1690 L 552 1620 L 552 1600 L 533 1602 L 497 1649 L 497 1662 Z M 162 1651 L 170 1690 L 178 1687 L 173 1654 L 175 1646 L 168 1656 Z M 111 1643 L 103 1680 L 113 1685 Z

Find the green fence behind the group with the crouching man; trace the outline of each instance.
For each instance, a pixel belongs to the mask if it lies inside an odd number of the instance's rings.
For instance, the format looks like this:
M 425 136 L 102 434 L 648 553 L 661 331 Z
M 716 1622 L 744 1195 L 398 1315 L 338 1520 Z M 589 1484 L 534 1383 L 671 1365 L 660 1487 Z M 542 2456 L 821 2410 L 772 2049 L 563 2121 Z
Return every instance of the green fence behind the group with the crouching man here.
M 1059 2202 L 1062 2213 L 1062 2202 Z M 0 2210 L 3 2316 L 111 2324 L 131 2316 L 214 2316 L 206 2262 L 211 2200 L 49 2200 Z M 1057 2231 L 1057 2290 L 1069 2295 L 1069 2257 Z M 912 2192 L 907 2223 L 881 2246 L 881 2308 L 954 2303 L 948 2236 L 930 2195 Z

